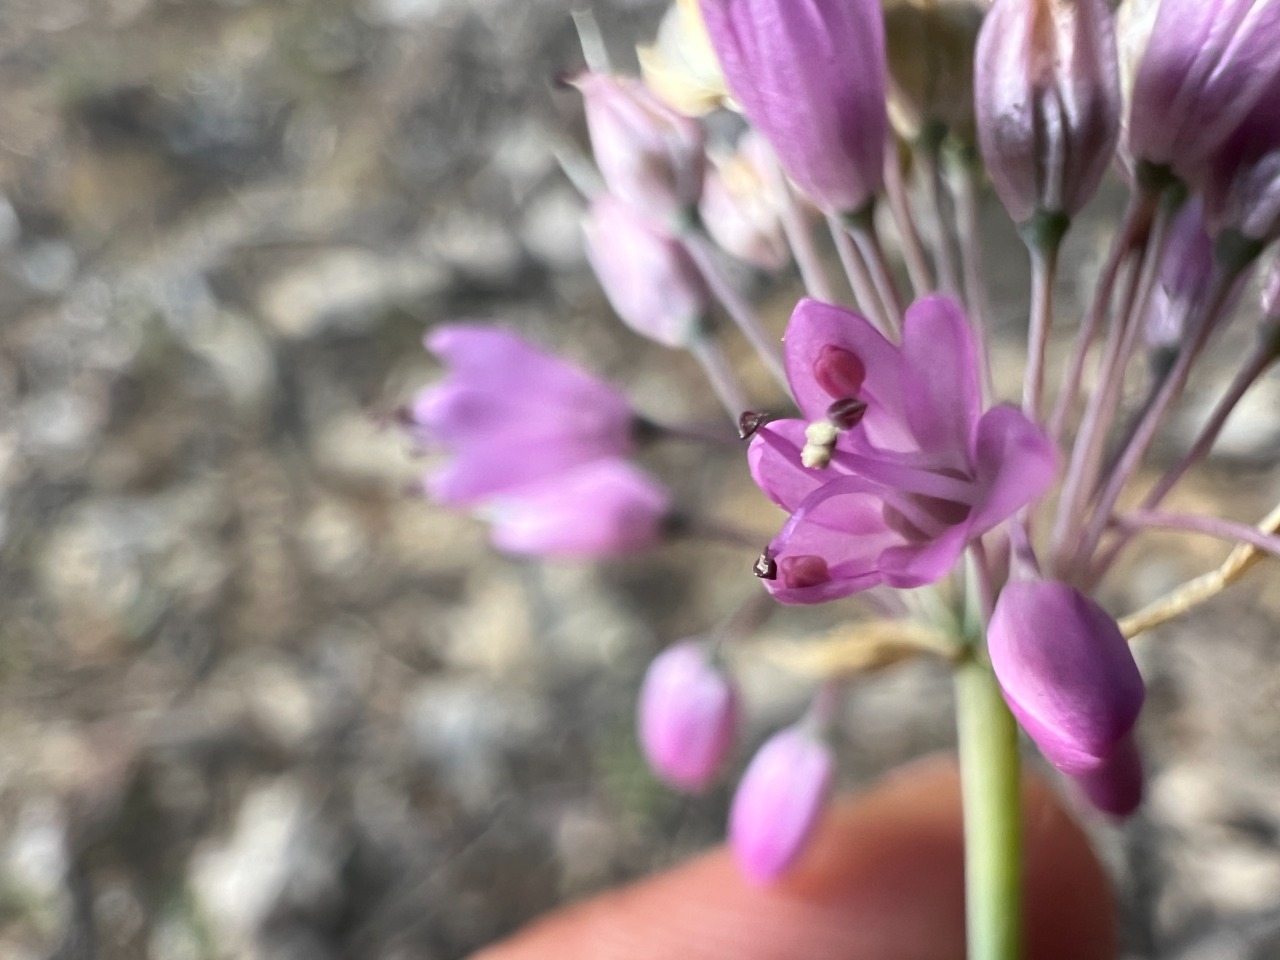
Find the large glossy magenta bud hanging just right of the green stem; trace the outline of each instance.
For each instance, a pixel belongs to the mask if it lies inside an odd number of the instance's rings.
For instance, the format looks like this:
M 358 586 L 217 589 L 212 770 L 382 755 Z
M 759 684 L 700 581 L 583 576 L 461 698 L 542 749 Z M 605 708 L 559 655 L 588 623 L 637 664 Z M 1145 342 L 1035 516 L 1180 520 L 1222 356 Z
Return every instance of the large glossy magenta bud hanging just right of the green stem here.
M 1005 586 L 987 644 L 1009 709 L 1064 773 L 1097 771 L 1138 719 L 1146 689 L 1129 644 L 1066 584 Z

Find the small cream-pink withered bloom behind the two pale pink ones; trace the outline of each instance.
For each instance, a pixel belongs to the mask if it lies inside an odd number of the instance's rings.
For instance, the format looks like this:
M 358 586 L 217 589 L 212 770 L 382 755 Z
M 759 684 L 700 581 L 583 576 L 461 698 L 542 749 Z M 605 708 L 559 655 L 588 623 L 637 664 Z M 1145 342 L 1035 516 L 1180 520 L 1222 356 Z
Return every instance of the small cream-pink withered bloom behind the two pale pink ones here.
M 780 270 L 791 257 L 782 234 L 778 200 L 769 186 L 769 146 L 748 131 L 732 156 L 707 168 L 699 214 L 707 232 L 728 253 L 762 270 Z

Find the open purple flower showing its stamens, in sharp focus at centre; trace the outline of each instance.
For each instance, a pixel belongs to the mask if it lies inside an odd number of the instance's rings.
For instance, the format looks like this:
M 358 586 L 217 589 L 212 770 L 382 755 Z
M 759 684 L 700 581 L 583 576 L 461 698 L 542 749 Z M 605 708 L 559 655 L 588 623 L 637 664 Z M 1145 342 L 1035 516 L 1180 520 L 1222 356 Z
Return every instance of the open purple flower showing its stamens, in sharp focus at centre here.
M 945 297 L 906 311 L 901 347 L 804 300 L 786 358 L 805 420 L 764 426 L 749 452 L 755 483 L 791 513 L 767 549 L 783 603 L 933 582 L 1053 481 L 1039 428 L 1012 407 L 982 411 L 969 324 Z

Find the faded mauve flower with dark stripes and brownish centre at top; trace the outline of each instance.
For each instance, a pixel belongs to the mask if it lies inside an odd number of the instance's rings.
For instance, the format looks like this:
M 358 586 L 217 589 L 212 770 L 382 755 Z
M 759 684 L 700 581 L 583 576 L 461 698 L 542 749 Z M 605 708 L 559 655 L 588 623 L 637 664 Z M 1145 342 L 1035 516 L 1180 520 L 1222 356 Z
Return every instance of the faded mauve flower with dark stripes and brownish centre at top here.
M 996 0 L 978 35 L 978 142 L 1016 224 L 1079 212 L 1120 134 L 1106 0 Z

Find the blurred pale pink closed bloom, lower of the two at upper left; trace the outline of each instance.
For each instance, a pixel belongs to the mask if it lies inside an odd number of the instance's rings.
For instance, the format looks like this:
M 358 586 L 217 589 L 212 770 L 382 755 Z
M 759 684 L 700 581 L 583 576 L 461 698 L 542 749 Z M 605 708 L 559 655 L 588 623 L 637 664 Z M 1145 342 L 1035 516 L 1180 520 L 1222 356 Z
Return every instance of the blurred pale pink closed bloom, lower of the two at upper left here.
M 627 326 L 667 347 L 700 335 L 710 294 L 677 239 L 611 193 L 591 202 L 582 230 L 586 259 Z

